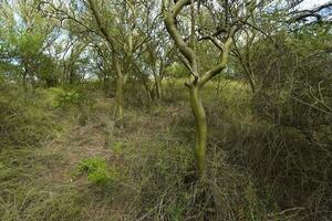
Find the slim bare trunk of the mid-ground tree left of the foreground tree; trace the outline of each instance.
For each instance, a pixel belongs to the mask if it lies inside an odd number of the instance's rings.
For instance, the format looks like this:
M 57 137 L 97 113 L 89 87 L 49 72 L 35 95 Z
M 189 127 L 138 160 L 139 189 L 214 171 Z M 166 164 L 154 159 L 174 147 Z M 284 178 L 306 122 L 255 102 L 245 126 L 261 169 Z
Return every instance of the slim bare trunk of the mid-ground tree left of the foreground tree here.
M 115 115 L 118 117 L 120 120 L 124 118 L 124 108 L 123 108 L 123 91 L 124 91 L 124 76 L 122 73 L 121 64 L 118 61 L 115 62 L 116 67 L 116 94 L 115 94 L 115 102 L 116 102 L 116 108 L 115 108 Z

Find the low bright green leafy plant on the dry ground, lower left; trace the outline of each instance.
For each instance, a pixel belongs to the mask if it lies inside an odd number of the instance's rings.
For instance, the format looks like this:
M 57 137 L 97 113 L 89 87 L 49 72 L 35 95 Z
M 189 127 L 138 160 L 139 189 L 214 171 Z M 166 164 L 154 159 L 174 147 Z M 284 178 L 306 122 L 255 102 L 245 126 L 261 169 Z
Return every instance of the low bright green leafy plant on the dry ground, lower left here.
M 98 157 L 81 160 L 76 169 L 76 175 L 86 172 L 89 181 L 98 186 L 107 186 L 120 176 L 114 168 L 107 167 L 105 159 Z

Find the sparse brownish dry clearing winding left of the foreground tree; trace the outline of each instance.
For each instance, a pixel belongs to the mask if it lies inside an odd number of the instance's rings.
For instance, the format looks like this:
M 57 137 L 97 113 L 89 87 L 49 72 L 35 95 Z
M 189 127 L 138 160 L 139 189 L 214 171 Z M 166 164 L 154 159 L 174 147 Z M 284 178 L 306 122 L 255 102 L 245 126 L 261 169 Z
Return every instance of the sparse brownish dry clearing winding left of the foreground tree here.
M 38 156 L 56 158 L 56 164 L 43 170 L 41 183 L 48 183 L 50 192 L 56 192 L 59 187 L 75 189 L 84 193 L 85 209 L 80 220 L 123 220 L 126 215 L 126 201 L 112 202 L 107 194 L 103 194 L 103 188 L 95 187 L 86 176 L 75 176 L 77 165 L 84 159 L 106 159 L 107 165 L 121 170 L 124 158 L 114 152 L 114 146 L 131 144 L 139 148 L 141 144 L 154 139 L 156 131 L 163 133 L 167 128 L 167 122 L 172 122 L 178 112 L 178 107 L 170 106 L 164 109 L 164 115 L 151 115 L 146 113 L 131 113 L 126 125 L 116 125 L 112 119 L 112 106 L 114 101 L 98 99 L 97 112 L 92 120 L 84 125 L 76 122 L 64 120 L 64 130 L 53 139 L 45 148 L 37 150 Z M 156 113 L 156 112 L 155 112 Z M 62 189 L 61 188 L 61 189 Z M 61 192 L 58 192 L 61 193 Z M 81 196 L 82 197 L 82 196 Z M 81 209 L 82 211 L 82 209 Z M 77 219 L 77 218 L 75 218 Z

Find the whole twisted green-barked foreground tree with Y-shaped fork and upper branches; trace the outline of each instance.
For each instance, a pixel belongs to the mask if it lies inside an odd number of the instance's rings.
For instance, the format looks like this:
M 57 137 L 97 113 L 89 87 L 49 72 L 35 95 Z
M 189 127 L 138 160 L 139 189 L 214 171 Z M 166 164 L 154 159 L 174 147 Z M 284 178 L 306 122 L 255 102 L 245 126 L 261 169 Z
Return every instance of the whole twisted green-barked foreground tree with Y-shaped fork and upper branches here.
M 175 1 L 172 4 L 167 0 L 163 0 L 163 14 L 164 22 L 167 29 L 167 32 L 172 36 L 175 42 L 175 45 L 179 50 L 180 54 L 184 56 L 184 63 L 187 66 L 190 73 L 190 80 L 186 83 L 190 95 L 190 106 L 196 122 L 196 146 L 195 146 L 195 159 L 196 159 L 196 168 L 198 171 L 198 176 L 201 178 L 205 176 L 206 171 L 206 148 L 207 148 L 207 138 L 208 138 L 208 128 L 207 128 L 207 118 L 205 108 L 203 106 L 201 98 L 201 88 L 217 74 L 224 71 L 228 64 L 230 46 L 232 44 L 232 39 L 238 30 L 238 22 L 228 23 L 228 14 L 225 14 L 224 21 L 225 23 L 215 24 L 216 28 L 220 28 L 222 30 L 214 30 L 214 32 L 208 33 L 207 35 L 203 35 L 199 39 L 196 38 L 196 31 L 200 31 L 200 33 L 206 32 L 203 30 L 199 24 L 196 23 L 196 10 L 195 8 L 200 7 L 201 1 L 191 1 L 191 0 L 179 0 Z M 185 8 L 190 7 L 190 33 L 187 36 L 187 41 L 181 35 L 179 27 L 178 27 L 178 15 Z M 205 4 L 207 9 L 211 9 L 214 7 L 211 4 Z M 221 4 L 220 4 L 221 6 Z M 226 7 L 228 10 L 229 8 Z M 222 25 L 225 24 L 225 25 Z M 210 30 L 208 30 L 210 31 Z M 217 36 L 221 36 L 220 41 L 217 40 Z M 208 71 L 201 71 L 199 66 L 199 60 L 195 52 L 195 44 L 198 41 L 210 40 L 215 46 L 217 46 L 221 54 L 218 63 Z M 199 74 L 201 73 L 201 74 Z

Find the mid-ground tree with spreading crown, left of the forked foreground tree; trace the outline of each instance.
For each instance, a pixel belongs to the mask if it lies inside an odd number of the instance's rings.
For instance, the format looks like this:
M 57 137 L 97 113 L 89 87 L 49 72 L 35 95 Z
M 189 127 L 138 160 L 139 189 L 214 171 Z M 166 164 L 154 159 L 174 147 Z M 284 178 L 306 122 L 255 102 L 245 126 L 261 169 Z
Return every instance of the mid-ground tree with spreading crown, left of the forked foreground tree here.
M 49 7 L 45 10 L 50 15 L 54 14 L 53 17 L 61 21 L 69 20 L 77 24 L 85 34 L 89 33 L 106 42 L 108 54 L 112 55 L 110 63 L 113 69 L 110 70 L 115 70 L 116 75 L 115 114 L 120 120 L 123 119 L 125 82 L 127 75 L 133 74 L 135 54 L 149 39 L 146 32 L 149 29 L 144 30 L 138 25 L 151 20 L 153 13 L 148 12 L 151 8 L 148 1 L 77 0 L 70 3 L 61 1 L 61 3 L 42 2 Z M 75 10 L 77 8 L 80 10 Z

